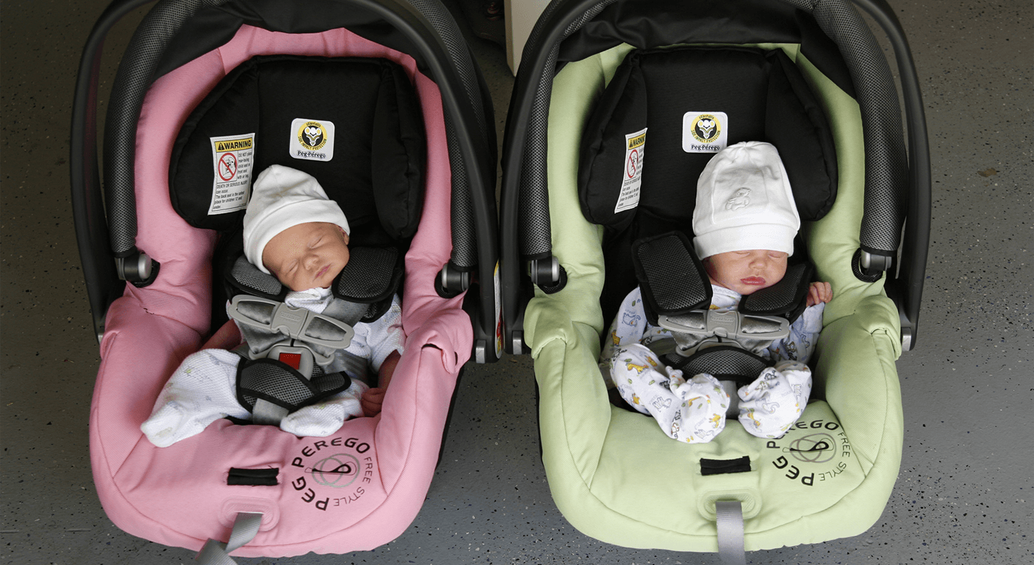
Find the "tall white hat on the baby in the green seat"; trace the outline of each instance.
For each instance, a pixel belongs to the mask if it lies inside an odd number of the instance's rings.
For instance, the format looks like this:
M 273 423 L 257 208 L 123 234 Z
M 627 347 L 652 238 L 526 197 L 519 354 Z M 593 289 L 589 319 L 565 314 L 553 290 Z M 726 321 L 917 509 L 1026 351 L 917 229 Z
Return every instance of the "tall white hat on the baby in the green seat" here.
M 744 249 L 793 255 L 799 229 L 790 181 L 771 144 L 737 143 L 707 161 L 693 210 L 693 244 L 700 259 Z

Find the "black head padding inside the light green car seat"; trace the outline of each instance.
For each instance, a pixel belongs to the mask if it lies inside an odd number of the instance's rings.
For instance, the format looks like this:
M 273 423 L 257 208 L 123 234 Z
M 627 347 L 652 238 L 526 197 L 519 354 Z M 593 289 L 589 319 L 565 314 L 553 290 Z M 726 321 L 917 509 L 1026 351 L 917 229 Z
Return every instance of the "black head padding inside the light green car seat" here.
M 801 220 L 821 218 L 837 198 L 837 154 L 825 114 L 796 65 L 780 49 L 676 47 L 629 53 L 582 135 L 578 190 L 582 213 L 604 226 L 605 319 L 637 284 L 632 244 L 670 231 L 693 236 L 697 179 L 717 152 L 686 152 L 687 113 L 725 113 L 727 145 L 771 143 L 780 151 Z M 639 202 L 616 211 L 627 136 L 646 129 Z M 804 254 L 802 238 L 795 242 Z

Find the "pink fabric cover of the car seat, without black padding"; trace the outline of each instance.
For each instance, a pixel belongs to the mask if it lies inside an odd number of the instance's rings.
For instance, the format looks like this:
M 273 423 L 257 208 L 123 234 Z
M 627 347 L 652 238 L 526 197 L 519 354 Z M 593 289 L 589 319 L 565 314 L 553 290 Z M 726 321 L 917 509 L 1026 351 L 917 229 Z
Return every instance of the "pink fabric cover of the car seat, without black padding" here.
M 141 433 L 158 391 L 209 331 L 215 233 L 189 227 L 169 199 L 169 161 L 183 121 L 239 63 L 264 54 L 384 57 L 416 84 L 427 132 L 427 188 L 406 255 L 406 351 L 376 418 L 346 421 L 327 438 L 274 426 L 211 424 L 157 448 Z M 227 44 L 161 77 L 151 88 L 136 139 L 138 246 L 161 263 L 146 289 L 127 286 L 108 314 L 90 415 L 94 481 L 109 517 L 124 531 L 200 549 L 225 541 L 239 511 L 264 513 L 257 536 L 234 552 L 285 557 L 370 549 L 413 522 L 437 460 L 450 400 L 473 336 L 462 297 L 435 294 L 448 262 L 451 172 L 442 100 L 407 55 L 344 29 L 285 34 L 242 27 Z M 276 486 L 229 486 L 230 468 L 278 468 Z M 327 473 L 337 468 L 344 474 Z M 354 472 L 347 472 L 352 471 Z

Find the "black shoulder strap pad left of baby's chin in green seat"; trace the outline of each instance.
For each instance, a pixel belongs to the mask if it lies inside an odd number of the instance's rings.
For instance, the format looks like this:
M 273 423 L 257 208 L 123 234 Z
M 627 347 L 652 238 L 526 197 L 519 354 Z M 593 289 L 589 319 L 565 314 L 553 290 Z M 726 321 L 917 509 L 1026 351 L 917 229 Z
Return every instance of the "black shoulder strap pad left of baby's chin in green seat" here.
M 659 315 L 680 316 L 710 305 L 710 279 L 686 234 L 669 232 L 636 241 L 632 263 L 649 323 L 656 325 Z

